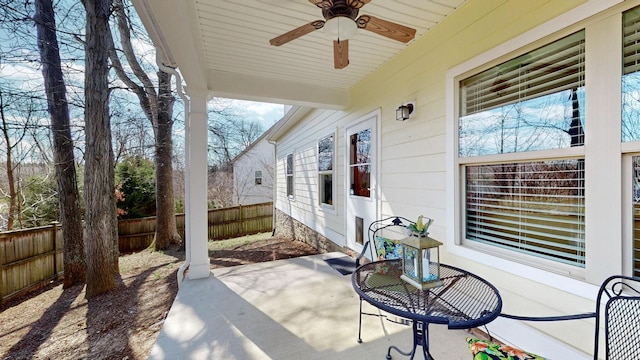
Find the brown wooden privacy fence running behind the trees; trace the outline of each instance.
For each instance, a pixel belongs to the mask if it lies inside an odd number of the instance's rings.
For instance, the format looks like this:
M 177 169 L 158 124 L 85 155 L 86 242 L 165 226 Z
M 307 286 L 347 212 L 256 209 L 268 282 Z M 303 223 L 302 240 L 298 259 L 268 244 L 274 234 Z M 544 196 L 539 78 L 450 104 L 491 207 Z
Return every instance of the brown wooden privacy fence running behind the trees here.
M 209 210 L 209 240 L 228 239 L 273 229 L 271 202 Z M 184 238 L 184 214 L 176 215 Z M 153 241 L 156 218 L 118 221 L 120 252 L 147 248 Z M 0 302 L 63 275 L 63 236 L 58 223 L 0 233 Z

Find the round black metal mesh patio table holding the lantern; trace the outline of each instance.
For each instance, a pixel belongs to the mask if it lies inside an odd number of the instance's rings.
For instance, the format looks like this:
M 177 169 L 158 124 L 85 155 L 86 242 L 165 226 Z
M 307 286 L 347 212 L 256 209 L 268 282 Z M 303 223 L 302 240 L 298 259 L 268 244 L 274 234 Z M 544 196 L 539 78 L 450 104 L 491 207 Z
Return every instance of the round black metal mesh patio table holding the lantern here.
M 431 266 L 437 266 L 432 263 Z M 440 264 L 442 286 L 419 290 L 400 279 L 402 260 L 385 260 L 364 264 L 352 275 L 353 288 L 363 300 L 390 314 L 413 323 L 413 349 L 403 352 L 411 356 L 422 346 L 425 359 L 429 353 L 429 324 L 444 324 L 449 329 L 470 329 L 485 325 L 500 314 L 502 298 L 488 281 L 468 271 Z

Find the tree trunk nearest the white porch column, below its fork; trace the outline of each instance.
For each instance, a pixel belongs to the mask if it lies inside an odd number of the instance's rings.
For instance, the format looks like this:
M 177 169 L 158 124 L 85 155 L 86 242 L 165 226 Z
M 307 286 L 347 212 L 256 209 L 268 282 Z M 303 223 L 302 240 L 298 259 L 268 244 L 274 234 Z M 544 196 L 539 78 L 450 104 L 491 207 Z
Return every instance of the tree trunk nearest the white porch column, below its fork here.
M 173 203 L 173 103 L 171 75 L 158 71 L 158 129 L 156 131 L 156 250 L 180 243 Z

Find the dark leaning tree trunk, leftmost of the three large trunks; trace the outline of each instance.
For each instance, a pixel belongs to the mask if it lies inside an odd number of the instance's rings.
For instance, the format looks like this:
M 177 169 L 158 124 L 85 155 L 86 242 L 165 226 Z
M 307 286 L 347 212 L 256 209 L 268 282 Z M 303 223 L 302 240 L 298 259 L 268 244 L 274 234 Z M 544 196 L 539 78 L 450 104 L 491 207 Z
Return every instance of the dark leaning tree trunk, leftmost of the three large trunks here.
M 63 287 L 68 288 L 74 284 L 83 283 L 87 271 L 80 216 L 80 195 L 76 182 L 67 90 L 62 77 L 53 4 L 51 0 L 36 0 L 35 6 L 34 20 L 38 30 L 38 49 L 47 94 L 47 107 L 51 115 L 53 159 L 58 183 L 60 222 L 64 236 Z

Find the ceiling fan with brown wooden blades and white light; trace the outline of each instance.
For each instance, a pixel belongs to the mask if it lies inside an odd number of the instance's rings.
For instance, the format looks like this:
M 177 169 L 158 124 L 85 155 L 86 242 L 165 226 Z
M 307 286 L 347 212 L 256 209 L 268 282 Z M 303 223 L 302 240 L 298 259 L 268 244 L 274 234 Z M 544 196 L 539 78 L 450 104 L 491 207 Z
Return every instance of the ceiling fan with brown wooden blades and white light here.
M 357 29 L 369 30 L 403 43 L 411 41 L 416 35 L 415 29 L 404 25 L 371 15 L 358 17 L 360 8 L 371 0 L 309 0 L 309 2 L 322 9 L 325 20 L 312 21 L 277 36 L 269 40 L 271 45 L 280 46 L 324 28 L 325 33 L 333 38 L 333 66 L 336 69 L 343 69 L 349 65 L 349 38 Z

